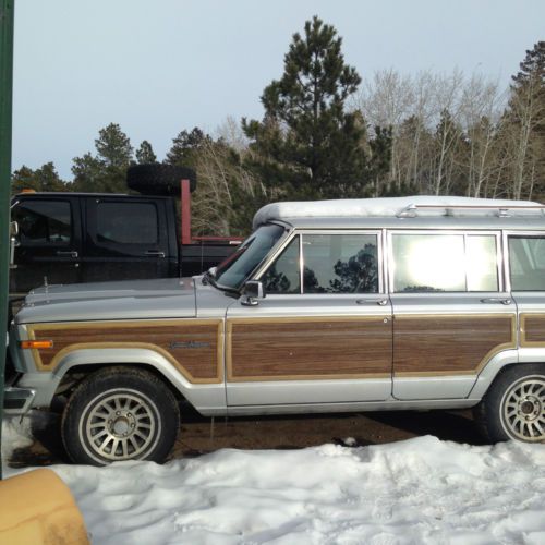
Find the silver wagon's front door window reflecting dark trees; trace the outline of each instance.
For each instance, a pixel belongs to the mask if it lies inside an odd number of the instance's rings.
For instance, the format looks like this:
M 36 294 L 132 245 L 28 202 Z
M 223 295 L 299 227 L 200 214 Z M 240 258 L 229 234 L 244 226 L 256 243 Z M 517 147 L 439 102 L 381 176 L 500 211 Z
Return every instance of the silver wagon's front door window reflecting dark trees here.
M 300 244 L 303 257 L 301 289 Z M 267 293 L 376 293 L 376 234 L 301 234 L 263 275 Z

